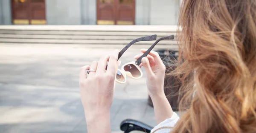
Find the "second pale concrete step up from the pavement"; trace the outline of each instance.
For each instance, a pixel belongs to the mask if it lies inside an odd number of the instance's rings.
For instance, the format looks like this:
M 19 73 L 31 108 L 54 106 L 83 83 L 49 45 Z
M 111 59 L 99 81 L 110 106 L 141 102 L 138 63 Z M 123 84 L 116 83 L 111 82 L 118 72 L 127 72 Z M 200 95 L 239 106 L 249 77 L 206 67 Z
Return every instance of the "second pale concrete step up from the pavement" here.
M 96 36 L 96 35 L 38 35 L 38 34 L 0 34 L 1 38 L 20 39 L 66 39 L 66 40 L 134 40 L 141 36 Z M 158 36 L 158 38 L 163 36 Z M 176 40 L 176 37 L 175 37 Z

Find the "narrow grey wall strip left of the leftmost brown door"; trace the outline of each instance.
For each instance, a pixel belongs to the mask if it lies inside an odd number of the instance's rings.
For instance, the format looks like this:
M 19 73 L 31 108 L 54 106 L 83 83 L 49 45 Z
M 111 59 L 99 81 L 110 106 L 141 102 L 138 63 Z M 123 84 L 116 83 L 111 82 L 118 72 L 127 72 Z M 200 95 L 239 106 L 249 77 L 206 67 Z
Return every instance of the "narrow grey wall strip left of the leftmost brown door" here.
M 0 25 L 12 24 L 11 0 L 0 0 Z

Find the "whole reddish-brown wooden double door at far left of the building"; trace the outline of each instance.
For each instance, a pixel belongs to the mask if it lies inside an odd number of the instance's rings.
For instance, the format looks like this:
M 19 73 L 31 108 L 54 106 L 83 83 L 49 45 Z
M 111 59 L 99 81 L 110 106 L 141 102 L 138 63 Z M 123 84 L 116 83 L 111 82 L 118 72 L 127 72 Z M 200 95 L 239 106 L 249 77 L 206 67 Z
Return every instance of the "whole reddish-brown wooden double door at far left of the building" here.
M 13 24 L 46 24 L 45 0 L 12 0 Z

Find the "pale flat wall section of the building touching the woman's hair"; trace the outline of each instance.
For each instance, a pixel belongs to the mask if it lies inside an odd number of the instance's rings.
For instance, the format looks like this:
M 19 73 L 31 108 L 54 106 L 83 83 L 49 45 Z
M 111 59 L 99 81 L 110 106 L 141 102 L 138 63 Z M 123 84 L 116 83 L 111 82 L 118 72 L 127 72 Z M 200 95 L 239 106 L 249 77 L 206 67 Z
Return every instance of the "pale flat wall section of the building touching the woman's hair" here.
M 150 25 L 177 25 L 180 0 L 151 0 Z

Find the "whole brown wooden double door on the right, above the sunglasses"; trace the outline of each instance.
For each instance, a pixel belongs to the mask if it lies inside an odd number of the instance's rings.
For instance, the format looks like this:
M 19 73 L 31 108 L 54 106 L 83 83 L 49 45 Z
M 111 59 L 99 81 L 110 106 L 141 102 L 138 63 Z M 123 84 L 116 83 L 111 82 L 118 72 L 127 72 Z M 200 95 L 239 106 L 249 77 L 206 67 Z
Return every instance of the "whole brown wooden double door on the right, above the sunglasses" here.
M 135 0 L 97 0 L 98 25 L 134 25 Z

